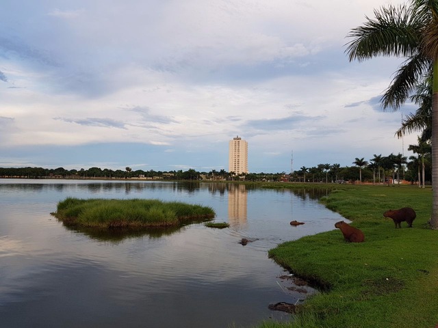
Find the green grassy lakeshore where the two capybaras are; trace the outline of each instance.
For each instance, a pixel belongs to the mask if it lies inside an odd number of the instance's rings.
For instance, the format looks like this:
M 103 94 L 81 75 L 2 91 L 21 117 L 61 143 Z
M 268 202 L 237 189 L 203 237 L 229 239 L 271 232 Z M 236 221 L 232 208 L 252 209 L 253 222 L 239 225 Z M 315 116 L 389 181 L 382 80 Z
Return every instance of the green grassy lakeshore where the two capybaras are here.
M 321 201 L 352 220 L 365 243 L 346 243 L 333 227 L 271 249 L 270 258 L 322 292 L 309 297 L 289 323 L 259 327 L 435 327 L 438 231 L 428 228 L 431 189 L 342 185 Z M 404 206 L 414 208 L 417 218 L 413 228 L 402 222 L 396 229 L 383 212 Z

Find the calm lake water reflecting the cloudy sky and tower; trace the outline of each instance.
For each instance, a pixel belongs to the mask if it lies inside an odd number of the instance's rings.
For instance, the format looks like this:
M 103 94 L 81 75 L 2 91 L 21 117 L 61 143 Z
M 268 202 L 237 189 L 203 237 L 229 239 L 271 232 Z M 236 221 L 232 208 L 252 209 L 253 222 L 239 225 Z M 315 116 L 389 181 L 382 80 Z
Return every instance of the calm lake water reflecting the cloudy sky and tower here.
M 129 236 L 71 230 L 66 197 L 155 198 L 211 206 L 196 223 Z M 303 299 L 268 258 L 283 241 L 342 219 L 313 195 L 244 185 L 0 179 L 1 327 L 248 327 L 289 320 L 270 303 Z M 290 226 L 292 220 L 305 225 Z M 246 246 L 238 242 L 253 239 Z

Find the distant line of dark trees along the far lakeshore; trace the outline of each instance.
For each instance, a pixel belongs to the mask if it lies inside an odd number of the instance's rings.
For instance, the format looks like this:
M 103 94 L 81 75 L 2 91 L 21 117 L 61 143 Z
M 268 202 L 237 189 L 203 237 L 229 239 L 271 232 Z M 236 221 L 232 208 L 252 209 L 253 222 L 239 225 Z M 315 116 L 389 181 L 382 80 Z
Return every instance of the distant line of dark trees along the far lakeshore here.
M 417 147 L 417 146 L 415 146 Z M 0 178 L 74 178 L 74 179 L 163 179 L 163 180 L 245 180 L 245 181 L 285 181 L 285 182 L 374 182 L 385 183 L 387 181 L 407 180 L 418 182 L 419 187 L 424 187 L 431 180 L 431 156 L 430 145 L 422 148 L 410 146 L 417 156 L 409 157 L 402 154 L 389 154 L 388 156 L 376 155 L 369 161 L 356 158 L 352 166 L 341 167 L 335 164 L 320 164 L 315 167 L 301 167 L 300 169 L 286 174 L 278 173 L 248 173 L 237 176 L 235 172 L 227 172 L 224 169 L 210 172 L 198 172 L 195 169 L 187 171 L 144 171 L 133 170 L 131 167 L 122 169 L 101 169 L 90 167 L 89 169 L 44 169 L 42 167 L 0 167 Z

